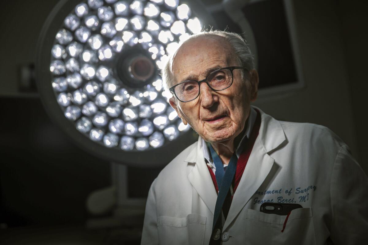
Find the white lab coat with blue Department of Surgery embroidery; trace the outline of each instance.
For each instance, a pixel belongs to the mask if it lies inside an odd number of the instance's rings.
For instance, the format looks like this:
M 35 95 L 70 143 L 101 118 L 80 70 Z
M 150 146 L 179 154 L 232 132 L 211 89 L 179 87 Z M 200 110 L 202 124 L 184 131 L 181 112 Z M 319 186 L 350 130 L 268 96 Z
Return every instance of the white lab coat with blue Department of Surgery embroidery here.
M 259 135 L 222 244 L 368 244 L 368 179 L 347 145 L 326 127 L 258 111 Z M 199 138 L 153 181 L 142 244 L 208 244 L 216 198 Z M 265 201 L 303 208 L 291 212 L 282 233 L 286 216 L 259 212 Z

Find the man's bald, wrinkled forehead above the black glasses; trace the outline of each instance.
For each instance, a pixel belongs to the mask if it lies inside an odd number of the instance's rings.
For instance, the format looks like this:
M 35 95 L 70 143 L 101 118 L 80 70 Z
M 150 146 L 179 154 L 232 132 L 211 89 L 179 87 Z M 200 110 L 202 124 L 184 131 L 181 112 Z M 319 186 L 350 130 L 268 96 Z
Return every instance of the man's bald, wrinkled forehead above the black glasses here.
M 188 40 L 173 57 L 171 71 L 175 84 L 186 78 L 198 80 L 210 68 L 228 66 L 234 57 L 231 54 L 230 45 L 222 36 L 205 35 Z

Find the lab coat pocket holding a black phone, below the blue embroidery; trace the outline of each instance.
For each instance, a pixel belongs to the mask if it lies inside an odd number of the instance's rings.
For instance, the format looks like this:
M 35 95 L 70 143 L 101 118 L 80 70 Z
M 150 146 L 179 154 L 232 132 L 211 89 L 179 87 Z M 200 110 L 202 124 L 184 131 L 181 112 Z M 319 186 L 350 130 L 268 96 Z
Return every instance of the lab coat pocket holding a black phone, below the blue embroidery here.
M 262 213 L 248 209 L 245 237 L 249 244 L 316 244 L 311 208 L 298 208 L 286 215 Z

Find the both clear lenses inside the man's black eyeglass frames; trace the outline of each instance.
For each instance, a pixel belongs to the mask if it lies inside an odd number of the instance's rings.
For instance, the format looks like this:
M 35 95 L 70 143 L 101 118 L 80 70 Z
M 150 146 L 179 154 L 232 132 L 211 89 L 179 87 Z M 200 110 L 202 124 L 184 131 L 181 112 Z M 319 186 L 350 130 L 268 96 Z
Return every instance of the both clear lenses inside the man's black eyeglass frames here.
M 231 85 L 233 76 L 229 69 L 220 69 L 219 71 L 210 73 L 206 82 L 213 90 L 226 89 Z M 175 87 L 175 94 L 181 101 L 190 101 L 196 98 L 199 94 L 199 84 L 197 81 L 191 80 L 180 83 Z

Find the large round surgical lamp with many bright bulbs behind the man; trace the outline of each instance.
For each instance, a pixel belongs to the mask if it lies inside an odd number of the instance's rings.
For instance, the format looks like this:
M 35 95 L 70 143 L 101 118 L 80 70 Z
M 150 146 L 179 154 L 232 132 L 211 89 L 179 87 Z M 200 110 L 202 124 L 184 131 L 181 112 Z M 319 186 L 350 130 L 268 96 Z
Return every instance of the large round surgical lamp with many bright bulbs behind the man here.
M 162 166 L 194 141 L 159 70 L 178 43 L 215 23 L 199 1 L 62 0 L 43 26 L 36 81 L 46 111 L 81 148 Z M 198 17 L 197 17 L 198 16 Z

